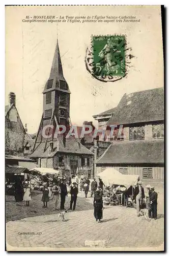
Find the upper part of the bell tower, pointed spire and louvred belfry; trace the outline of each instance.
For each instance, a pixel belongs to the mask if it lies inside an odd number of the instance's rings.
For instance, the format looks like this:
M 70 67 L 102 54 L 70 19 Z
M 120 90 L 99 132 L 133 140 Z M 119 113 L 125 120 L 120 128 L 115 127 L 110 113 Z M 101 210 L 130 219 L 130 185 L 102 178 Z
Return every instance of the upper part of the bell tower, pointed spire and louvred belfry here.
M 63 75 L 59 44 L 55 48 L 49 78 L 43 91 L 43 120 L 55 117 L 58 124 L 69 125 L 70 91 Z

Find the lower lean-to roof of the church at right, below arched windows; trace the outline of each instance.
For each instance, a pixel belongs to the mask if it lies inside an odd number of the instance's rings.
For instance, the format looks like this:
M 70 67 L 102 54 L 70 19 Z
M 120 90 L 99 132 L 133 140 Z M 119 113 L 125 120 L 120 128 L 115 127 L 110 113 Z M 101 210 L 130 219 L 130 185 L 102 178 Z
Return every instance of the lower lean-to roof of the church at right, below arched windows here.
M 96 163 L 164 163 L 164 140 L 114 142 Z

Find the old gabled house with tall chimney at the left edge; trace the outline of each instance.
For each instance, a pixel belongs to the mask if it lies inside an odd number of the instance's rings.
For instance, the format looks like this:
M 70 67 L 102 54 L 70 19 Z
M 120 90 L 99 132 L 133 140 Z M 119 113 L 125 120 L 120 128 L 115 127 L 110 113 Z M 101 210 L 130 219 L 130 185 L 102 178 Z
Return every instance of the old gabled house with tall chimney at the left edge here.
M 16 95 L 9 93 L 9 105 L 5 106 L 5 163 L 10 166 L 35 167 L 35 161 L 25 157 L 31 152 L 33 140 L 27 134 L 16 108 Z

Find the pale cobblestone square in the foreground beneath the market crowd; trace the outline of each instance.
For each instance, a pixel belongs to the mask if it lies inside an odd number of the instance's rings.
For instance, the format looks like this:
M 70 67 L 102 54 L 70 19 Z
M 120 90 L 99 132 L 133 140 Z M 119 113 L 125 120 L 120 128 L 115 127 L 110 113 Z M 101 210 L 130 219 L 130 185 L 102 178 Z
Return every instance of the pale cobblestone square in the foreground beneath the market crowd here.
M 52 201 L 47 209 L 42 208 L 41 196 L 35 195 L 30 207 L 24 206 L 24 203 L 17 206 L 14 200 L 11 201 L 12 197 L 7 196 L 7 244 L 10 246 L 22 247 L 23 250 L 26 247 L 32 250 L 44 247 L 78 250 L 85 247 L 86 240 L 104 240 L 107 248 L 143 248 L 158 247 L 164 241 L 162 193 L 159 193 L 158 219 L 150 222 L 144 217 L 137 217 L 134 208 L 105 206 L 103 220 L 98 223 L 93 216 L 93 199 L 90 194 L 85 199 L 83 193 L 79 193 L 76 210 L 66 214 L 66 221 L 57 221 L 60 211 L 52 211 Z M 69 203 L 70 196 L 66 198 L 66 208 L 69 208 Z M 13 208 L 11 211 L 10 207 Z

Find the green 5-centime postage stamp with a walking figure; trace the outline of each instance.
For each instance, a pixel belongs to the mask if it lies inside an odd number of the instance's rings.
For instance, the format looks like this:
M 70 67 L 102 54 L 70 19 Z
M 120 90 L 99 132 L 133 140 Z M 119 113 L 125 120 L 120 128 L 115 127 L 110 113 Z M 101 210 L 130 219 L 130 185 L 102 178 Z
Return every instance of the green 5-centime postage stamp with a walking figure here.
M 93 60 L 97 76 L 123 76 L 125 36 L 93 36 Z

